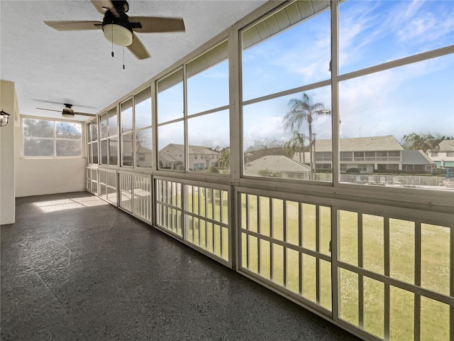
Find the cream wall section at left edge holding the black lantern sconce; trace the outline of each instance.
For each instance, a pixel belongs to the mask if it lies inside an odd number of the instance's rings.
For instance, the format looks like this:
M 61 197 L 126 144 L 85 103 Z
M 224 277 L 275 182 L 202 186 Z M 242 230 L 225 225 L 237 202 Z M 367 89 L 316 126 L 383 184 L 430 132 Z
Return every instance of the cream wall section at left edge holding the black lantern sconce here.
M 16 215 L 14 193 L 14 133 L 18 105 L 13 82 L 0 81 L 0 109 L 11 114 L 0 128 L 0 224 L 13 224 Z

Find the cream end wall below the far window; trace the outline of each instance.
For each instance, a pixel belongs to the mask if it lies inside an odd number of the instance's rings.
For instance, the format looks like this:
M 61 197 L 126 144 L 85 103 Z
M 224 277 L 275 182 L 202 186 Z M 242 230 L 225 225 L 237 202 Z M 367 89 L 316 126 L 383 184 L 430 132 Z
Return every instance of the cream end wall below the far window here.
M 86 158 L 22 158 L 16 133 L 16 197 L 85 190 Z

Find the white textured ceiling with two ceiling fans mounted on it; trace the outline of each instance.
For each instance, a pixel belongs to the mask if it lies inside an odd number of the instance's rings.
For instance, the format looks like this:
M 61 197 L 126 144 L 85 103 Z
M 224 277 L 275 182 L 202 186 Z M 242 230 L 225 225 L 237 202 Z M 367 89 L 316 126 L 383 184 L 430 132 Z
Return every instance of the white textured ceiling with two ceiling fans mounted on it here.
M 102 21 L 89 0 L 0 0 L 0 77 L 15 82 L 21 114 L 61 118 L 35 108 L 61 110 L 63 103 L 96 114 L 266 1 L 128 2 L 129 16 L 182 17 L 186 32 L 137 33 L 151 58 L 137 60 L 125 49 L 123 70 L 123 48 L 114 46 L 112 58 L 101 30 L 55 31 L 43 23 Z

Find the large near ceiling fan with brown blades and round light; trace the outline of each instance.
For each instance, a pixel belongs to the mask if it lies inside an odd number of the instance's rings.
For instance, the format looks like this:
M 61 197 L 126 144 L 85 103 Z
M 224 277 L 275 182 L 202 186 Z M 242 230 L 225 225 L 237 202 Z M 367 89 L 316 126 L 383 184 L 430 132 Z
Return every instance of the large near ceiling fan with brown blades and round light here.
M 135 35 L 137 33 L 184 32 L 182 18 L 159 16 L 128 16 L 126 0 L 91 0 L 103 21 L 44 21 L 57 31 L 86 31 L 102 28 L 104 37 L 111 43 L 126 46 L 138 59 L 150 57 L 150 53 Z M 113 52 L 112 52 L 113 56 Z

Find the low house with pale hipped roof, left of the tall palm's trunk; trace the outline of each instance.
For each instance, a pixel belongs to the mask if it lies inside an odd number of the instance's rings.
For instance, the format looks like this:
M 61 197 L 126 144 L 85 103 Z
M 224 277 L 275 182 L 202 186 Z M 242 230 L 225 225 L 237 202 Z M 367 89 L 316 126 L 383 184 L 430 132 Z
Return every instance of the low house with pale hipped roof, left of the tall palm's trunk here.
M 310 168 L 282 155 L 262 156 L 245 163 L 245 175 L 262 175 L 260 172 L 267 172 L 269 176 L 278 178 L 309 179 Z

